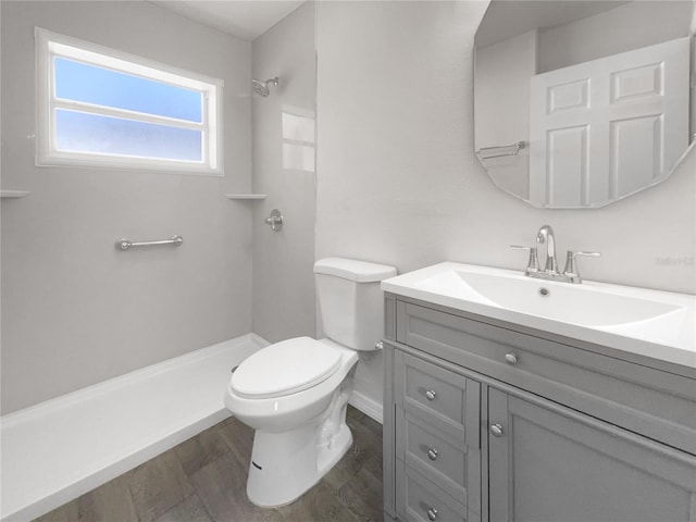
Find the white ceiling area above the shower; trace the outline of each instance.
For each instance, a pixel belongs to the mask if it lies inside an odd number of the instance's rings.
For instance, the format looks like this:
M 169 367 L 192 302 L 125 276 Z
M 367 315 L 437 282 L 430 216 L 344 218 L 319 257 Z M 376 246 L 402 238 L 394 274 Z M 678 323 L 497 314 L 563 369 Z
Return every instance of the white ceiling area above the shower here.
M 304 0 L 149 0 L 189 20 L 245 40 L 253 40 Z

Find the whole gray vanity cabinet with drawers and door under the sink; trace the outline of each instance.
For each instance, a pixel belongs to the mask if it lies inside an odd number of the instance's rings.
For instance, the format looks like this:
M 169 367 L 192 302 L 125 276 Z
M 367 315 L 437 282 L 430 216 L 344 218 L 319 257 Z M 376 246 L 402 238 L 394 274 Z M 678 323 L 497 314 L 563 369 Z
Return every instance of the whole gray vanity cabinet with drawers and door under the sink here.
M 385 520 L 694 522 L 692 370 L 386 294 Z

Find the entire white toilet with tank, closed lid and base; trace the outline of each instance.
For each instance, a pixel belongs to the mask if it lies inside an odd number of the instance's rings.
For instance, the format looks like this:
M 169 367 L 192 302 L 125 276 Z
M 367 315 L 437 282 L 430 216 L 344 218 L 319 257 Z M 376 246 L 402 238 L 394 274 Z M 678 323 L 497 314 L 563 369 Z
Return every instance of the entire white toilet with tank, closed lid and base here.
M 380 282 L 396 269 L 344 258 L 314 263 L 325 338 L 270 345 L 233 373 L 225 406 L 256 430 L 247 496 L 260 507 L 290 504 L 352 444 L 346 408 L 359 351 L 384 332 Z

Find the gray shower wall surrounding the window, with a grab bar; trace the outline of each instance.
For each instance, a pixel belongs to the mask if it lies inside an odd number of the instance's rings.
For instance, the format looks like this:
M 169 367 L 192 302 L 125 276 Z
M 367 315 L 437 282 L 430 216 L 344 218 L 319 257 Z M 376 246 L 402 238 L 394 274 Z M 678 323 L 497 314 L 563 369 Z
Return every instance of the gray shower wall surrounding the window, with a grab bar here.
M 2 412 L 251 331 L 251 46 L 149 2 L 1 2 Z M 225 176 L 36 167 L 34 26 L 223 78 Z M 117 252 L 114 241 L 184 237 Z

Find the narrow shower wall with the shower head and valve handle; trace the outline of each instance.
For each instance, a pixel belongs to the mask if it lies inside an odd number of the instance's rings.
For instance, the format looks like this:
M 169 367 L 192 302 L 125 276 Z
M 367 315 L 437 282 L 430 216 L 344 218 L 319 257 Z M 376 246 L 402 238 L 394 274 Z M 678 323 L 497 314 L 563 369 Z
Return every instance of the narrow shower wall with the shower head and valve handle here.
M 253 332 L 270 341 L 314 335 L 314 2 L 253 40 L 253 77 L 279 77 L 268 98 L 254 95 Z M 264 223 L 283 212 L 282 232 Z

